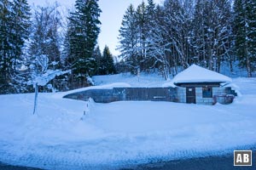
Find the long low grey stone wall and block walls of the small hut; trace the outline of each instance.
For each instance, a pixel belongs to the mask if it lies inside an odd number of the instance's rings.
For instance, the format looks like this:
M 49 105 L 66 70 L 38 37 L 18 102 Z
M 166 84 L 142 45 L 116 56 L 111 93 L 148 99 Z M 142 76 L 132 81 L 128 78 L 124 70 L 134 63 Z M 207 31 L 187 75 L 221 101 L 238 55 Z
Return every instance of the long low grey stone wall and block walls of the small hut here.
M 214 105 L 216 102 L 227 104 L 227 95 L 236 95 L 231 88 L 212 88 L 212 98 L 202 97 L 202 88 L 195 88 L 195 102 L 201 105 Z M 97 103 L 109 103 L 123 100 L 171 101 L 186 103 L 186 88 L 112 88 L 89 89 L 83 92 L 67 94 L 64 98 L 87 101 L 94 99 Z

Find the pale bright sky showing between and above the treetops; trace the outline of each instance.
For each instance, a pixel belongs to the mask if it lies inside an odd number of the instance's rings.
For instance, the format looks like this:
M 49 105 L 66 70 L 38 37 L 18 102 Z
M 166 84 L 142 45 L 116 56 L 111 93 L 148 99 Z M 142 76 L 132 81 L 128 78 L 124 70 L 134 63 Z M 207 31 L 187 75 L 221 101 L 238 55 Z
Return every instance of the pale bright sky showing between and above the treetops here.
M 31 5 L 41 5 L 45 4 L 53 4 L 55 0 L 28 0 L 27 1 Z M 67 9 L 73 8 L 75 0 L 59 0 L 57 1 Z M 121 22 L 123 19 L 123 15 L 125 14 L 126 8 L 132 3 L 135 7 L 138 4 L 142 3 L 143 0 L 99 0 L 99 6 L 102 9 L 102 14 L 100 20 L 102 22 L 101 33 L 98 37 L 98 43 L 100 45 L 101 50 L 107 45 L 110 49 L 110 52 L 113 55 L 118 55 L 119 51 L 116 50 L 118 46 L 118 36 L 119 36 L 119 28 L 121 26 Z M 147 2 L 147 0 L 144 0 Z M 162 0 L 154 0 L 155 3 L 160 3 Z

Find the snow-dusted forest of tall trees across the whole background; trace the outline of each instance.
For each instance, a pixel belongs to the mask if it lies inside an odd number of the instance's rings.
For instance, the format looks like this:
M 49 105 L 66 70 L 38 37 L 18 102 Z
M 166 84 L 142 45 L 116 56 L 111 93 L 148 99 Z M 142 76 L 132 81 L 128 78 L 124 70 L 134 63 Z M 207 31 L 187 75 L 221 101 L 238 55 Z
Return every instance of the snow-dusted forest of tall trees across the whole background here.
M 98 0 L 31 7 L 0 0 L 0 94 L 67 91 L 95 75 L 157 71 L 167 80 L 189 65 L 256 69 L 255 0 L 154 0 L 131 4 L 119 28 L 119 56 L 97 43 Z

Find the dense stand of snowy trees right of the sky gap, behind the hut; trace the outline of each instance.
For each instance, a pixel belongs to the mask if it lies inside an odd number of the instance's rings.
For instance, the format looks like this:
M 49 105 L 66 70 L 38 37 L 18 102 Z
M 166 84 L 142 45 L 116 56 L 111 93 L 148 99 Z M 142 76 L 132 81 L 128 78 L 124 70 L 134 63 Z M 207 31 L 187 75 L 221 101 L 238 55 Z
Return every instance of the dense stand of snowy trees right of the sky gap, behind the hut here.
M 240 65 L 248 77 L 255 70 L 255 3 L 235 1 L 232 26 L 230 0 L 165 0 L 155 7 L 130 5 L 119 29 L 122 64 L 132 72 L 156 68 L 168 78 L 191 63 L 220 71 L 224 61 L 234 60 L 234 32 Z M 120 69 L 119 69 L 120 70 Z

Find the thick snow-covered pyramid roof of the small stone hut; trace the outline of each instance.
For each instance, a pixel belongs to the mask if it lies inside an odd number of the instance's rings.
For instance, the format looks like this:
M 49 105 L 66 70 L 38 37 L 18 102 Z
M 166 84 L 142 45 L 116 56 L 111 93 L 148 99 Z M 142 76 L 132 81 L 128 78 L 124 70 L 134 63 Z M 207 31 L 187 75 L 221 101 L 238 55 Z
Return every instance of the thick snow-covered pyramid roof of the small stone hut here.
M 186 70 L 178 73 L 172 82 L 174 84 L 188 82 L 232 82 L 232 79 L 201 66 L 191 65 Z

